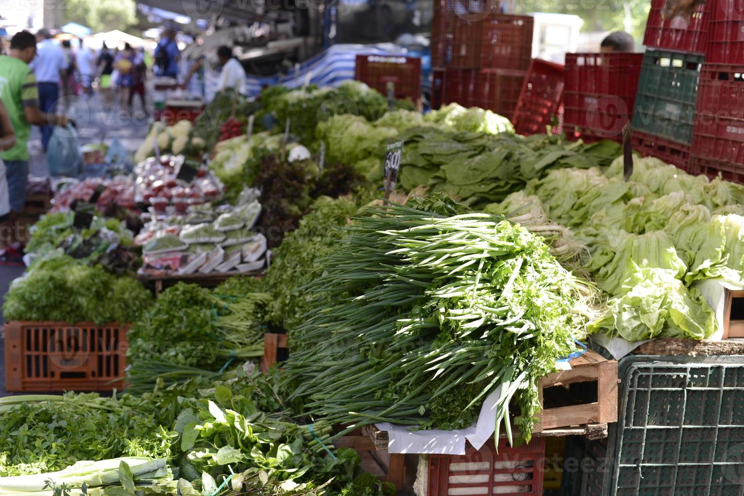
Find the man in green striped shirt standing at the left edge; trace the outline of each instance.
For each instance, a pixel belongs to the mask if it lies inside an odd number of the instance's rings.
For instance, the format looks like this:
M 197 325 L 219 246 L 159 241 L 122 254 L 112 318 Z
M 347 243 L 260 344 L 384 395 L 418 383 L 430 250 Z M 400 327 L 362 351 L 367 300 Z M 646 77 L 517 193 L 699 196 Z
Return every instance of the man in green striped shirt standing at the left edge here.
M 39 111 L 36 76 L 28 67 L 35 56 L 36 37 L 28 31 L 19 31 L 10 40 L 10 56 L 0 56 L 0 99 L 16 131 L 16 146 L 0 153 L 13 212 L 21 212 L 26 199 L 31 125 L 67 125 L 65 116 Z

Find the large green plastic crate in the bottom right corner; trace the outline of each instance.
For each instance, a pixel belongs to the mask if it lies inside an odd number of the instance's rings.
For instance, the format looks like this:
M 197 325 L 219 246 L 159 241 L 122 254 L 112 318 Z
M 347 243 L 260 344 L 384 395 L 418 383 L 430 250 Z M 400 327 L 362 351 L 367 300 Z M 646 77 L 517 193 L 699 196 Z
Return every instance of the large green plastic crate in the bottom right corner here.
M 616 482 L 601 494 L 741 495 L 744 356 L 667 358 L 620 362 Z

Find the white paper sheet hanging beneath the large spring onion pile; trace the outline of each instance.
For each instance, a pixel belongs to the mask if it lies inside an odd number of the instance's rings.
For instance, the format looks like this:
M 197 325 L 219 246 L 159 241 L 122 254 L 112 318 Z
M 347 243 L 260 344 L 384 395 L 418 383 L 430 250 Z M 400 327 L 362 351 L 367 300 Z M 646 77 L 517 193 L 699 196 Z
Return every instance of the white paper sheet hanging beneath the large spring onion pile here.
M 464 429 L 409 431 L 408 425 L 388 422 L 375 425 L 380 431 L 388 432 L 388 452 L 391 454 L 465 454 L 465 440 L 468 440 L 473 448 L 481 449 L 481 446 L 493 436 L 496 427 L 496 402 L 500 394 L 499 386 L 483 402 L 478 422 Z

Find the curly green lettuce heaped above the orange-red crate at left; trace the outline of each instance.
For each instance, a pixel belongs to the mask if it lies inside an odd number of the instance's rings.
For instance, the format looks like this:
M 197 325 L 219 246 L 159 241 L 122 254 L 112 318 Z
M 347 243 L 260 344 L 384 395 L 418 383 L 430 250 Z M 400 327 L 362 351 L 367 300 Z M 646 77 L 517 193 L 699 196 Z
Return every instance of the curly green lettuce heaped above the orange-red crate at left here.
M 131 277 L 118 277 L 67 255 L 37 261 L 16 279 L 2 307 L 6 320 L 132 322 L 152 303 Z

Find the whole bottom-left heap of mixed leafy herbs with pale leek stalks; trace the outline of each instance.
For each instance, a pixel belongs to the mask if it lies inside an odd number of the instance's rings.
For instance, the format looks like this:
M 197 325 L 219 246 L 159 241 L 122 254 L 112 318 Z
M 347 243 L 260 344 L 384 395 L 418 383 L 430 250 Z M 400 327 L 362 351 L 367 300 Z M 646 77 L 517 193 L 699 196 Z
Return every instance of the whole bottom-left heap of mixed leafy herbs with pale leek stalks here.
M 142 397 L 0 399 L 0 492 L 51 496 L 45 486 L 84 483 L 95 495 L 131 495 L 135 486 L 145 494 L 209 495 L 220 486 L 255 495 L 394 494 L 359 468 L 353 450 L 333 448 L 329 425 L 261 411 L 275 405 L 266 384 L 195 379 Z

